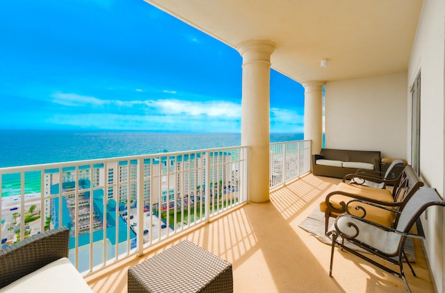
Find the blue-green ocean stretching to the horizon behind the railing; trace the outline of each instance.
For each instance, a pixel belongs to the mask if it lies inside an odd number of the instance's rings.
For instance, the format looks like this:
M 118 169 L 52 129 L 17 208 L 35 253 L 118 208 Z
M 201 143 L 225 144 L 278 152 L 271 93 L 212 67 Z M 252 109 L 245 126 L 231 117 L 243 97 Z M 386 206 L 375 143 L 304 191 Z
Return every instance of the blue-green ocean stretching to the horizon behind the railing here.
M 239 133 L 0 130 L 0 137 L 0 168 L 237 147 L 241 144 Z M 302 133 L 270 134 L 270 142 L 302 139 Z M 39 174 L 26 176 L 26 194 L 40 192 L 39 176 Z M 1 196 L 19 194 L 19 182 L 18 174 L 4 174 L 1 181 Z

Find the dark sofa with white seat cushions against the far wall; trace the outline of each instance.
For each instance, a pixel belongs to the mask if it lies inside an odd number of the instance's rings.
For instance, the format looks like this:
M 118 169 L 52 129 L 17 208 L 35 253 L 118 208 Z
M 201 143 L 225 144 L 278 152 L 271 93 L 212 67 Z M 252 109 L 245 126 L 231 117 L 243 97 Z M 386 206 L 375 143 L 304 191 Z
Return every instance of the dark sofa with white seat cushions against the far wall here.
M 312 155 L 314 175 L 343 178 L 358 169 L 380 171 L 380 151 L 321 149 L 319 155 Z

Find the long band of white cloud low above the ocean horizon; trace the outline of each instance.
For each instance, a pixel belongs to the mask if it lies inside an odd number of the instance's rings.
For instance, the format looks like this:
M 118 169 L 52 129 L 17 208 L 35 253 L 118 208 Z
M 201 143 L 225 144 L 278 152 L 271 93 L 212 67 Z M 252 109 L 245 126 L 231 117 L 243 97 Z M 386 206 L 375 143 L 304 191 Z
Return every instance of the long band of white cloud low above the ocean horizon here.
M 54 103 L 65 106 L 105 106 L 104 113 L 89 115 L 70 112 L 55 115 L 55 124 L 102 129 L 139 129 L 152 131 L 228 131 L 238 132 L 241 103 L 230 101 L 100 100 L 79 94 L 53 94 Z M 125 110 L 126 109 L 126 110 Z M 121 112 L 123 110 L 123 112 Z M 110 112 L 108 112 L 110 111 Z M 271 131 L 302 132 L 304 117 L 296 109 L 270 108 Z

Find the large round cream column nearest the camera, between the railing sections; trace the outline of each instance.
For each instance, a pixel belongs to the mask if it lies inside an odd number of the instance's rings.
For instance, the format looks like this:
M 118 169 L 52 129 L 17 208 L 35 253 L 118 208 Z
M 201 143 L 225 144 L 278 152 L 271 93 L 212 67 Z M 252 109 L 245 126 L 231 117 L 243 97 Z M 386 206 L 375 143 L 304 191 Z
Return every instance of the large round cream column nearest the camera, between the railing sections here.
M 248 201 L 269 201 L 270 54 L 271 40 L 248 40 L 243 56 L 241 145 L 248 149 Z

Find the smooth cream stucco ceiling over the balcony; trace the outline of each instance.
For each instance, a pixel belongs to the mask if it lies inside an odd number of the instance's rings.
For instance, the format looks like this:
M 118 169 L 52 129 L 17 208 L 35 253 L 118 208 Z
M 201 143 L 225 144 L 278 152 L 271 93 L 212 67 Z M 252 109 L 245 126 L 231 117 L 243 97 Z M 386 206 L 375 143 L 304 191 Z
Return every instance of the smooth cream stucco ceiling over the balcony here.
M 145 0 L 236 48 L 273 40 L 273 69 L 300 83 L 407 69 L 421 0 Z M 327 67 L 321 68 L 321 59 Z

